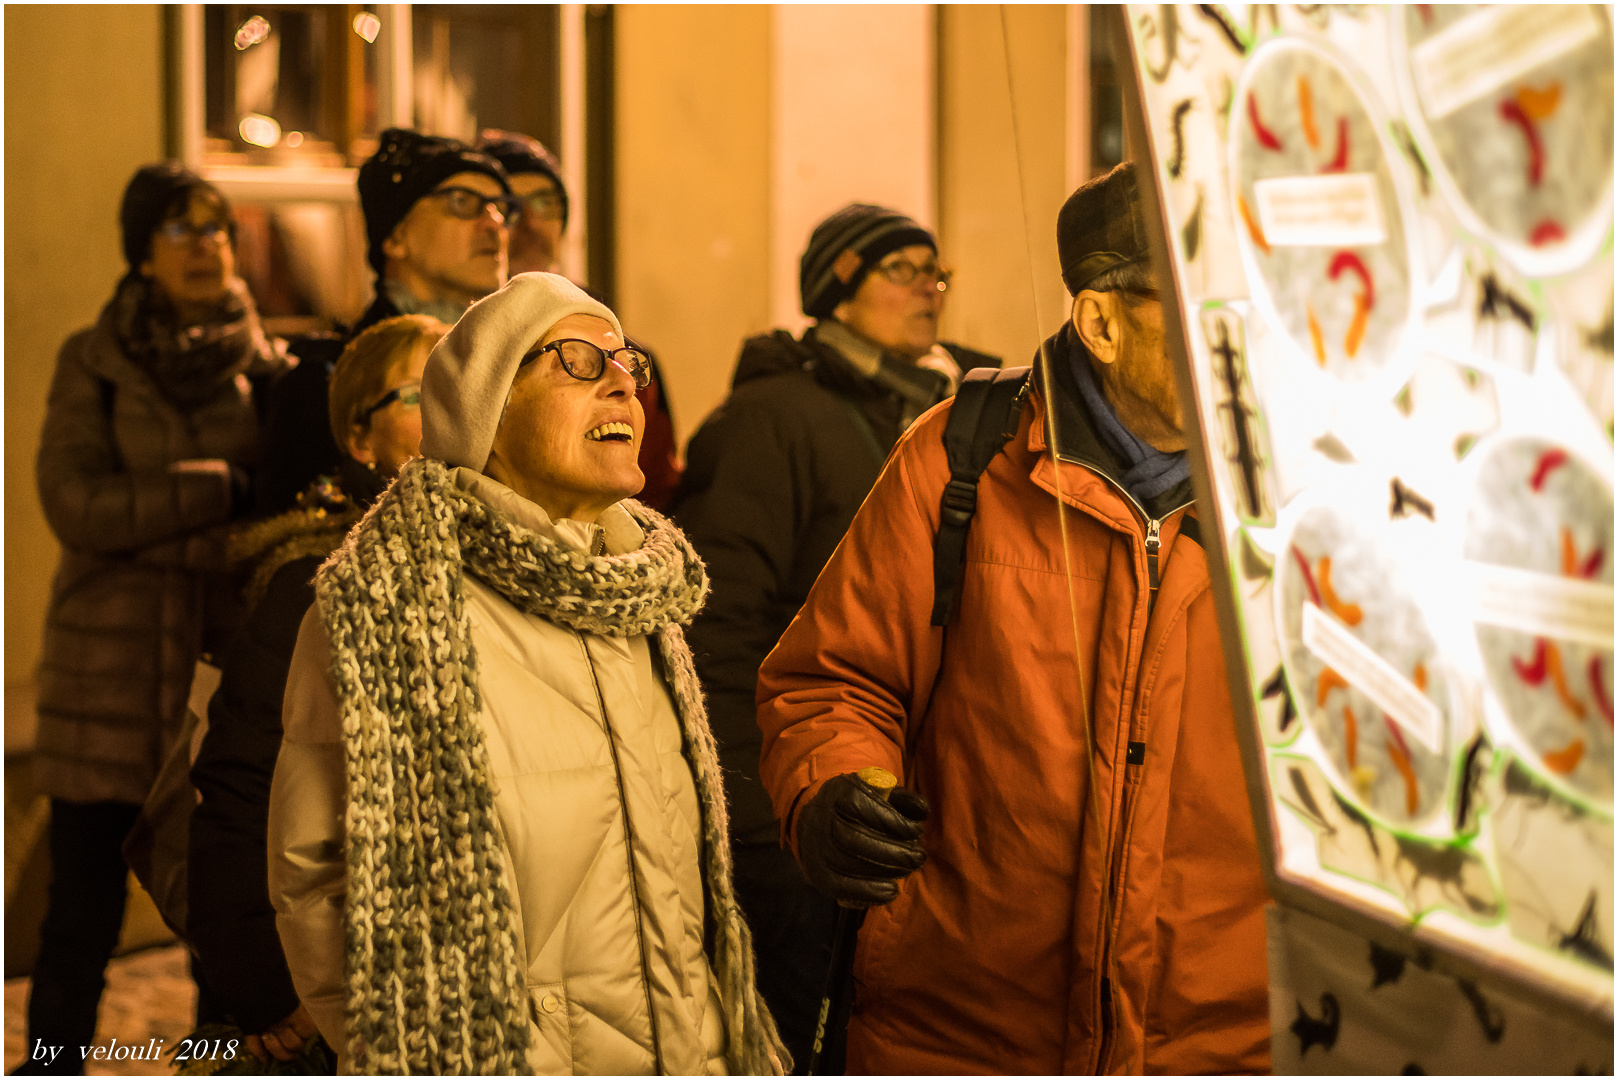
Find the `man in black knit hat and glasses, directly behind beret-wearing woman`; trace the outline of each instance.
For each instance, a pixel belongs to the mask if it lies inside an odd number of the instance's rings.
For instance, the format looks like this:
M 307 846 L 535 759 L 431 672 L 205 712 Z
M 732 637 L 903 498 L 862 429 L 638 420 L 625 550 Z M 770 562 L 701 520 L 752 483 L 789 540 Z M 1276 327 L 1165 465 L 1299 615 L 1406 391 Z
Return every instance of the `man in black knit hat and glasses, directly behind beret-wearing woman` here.
M 293 347 L 301 363 L 275 385 L 265 416 L 260 517 L 290 510 L 316 478 L 337 471 L 341 455 L 327 423 L 325 384 L 353 335 L 401 314 L 453 325 L 474 300 L 506 282 L 508 219 L 518 202 L 495 157 L 456 139 L 388 128 L 359 167 L 358 186 L 375 300 L 348 334 Z

